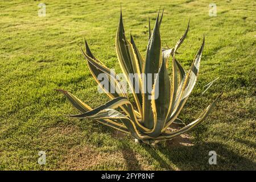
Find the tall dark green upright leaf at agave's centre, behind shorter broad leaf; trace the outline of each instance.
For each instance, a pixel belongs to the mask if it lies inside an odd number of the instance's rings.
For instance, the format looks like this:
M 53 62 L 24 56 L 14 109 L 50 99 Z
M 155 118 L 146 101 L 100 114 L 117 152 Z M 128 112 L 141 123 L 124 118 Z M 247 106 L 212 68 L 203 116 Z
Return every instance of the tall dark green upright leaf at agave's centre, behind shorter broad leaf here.
M 151 38 L 148 41 L 147 51 L 146 51 L 146 61 L 143 64 L 143 73 L 145 77 L 143 80 L 143 121 L 144 126 L 148 129 L 154 127 L 154 119 L 151 107 L 151 89 L 148 90 L 147 85 L 154 85 L 154 74 L 158 73 L 161 59 L 161 39 L 159 31 L 159 14 L 156 18 L 155 27 L 152 32 Z M 151 74 L 151 80 L 148 79 L 148 76 Z

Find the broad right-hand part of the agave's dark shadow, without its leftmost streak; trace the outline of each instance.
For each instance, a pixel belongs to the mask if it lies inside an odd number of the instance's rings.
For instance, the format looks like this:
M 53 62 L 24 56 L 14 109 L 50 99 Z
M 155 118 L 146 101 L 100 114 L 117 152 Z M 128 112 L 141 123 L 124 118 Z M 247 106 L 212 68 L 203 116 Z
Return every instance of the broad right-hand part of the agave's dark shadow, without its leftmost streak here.
M 227 146 L 217 142 L 204 142 L 194 146 L 149 147 L 143 144 L 147 152 L 160 163 L 160 167 L 171 170 L 170 164 L 163 160 L 160 154 L 178 170 L 256 170 L 253 160 L 230 151 Z M 209 151 L 216 151 L 217 164 L 210 165 Z

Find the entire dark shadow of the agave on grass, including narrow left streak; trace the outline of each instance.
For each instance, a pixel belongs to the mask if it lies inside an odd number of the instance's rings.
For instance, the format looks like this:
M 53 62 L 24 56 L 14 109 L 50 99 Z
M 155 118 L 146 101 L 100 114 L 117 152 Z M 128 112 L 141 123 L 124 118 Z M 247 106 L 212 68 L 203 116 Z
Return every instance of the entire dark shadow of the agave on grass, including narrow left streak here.
M 188 137 L 180 135 L 155 147 L 143 143 L 139 145 L 159 163 L 160 168 L 168 171 L 174 170 L 172 166 L 177 170 L 256 170 L 256 163 L 252 159 L 236 154 L 228 146 L 218 142 L 193 145 Z M 216 165 L 208 162 L 212 156 L 209 155 L 210 151 L 217 153 Z M 137 160 L 137 152 L 125 142 L 122 144 L 122 155 L 127 169 L 143 170 Z

